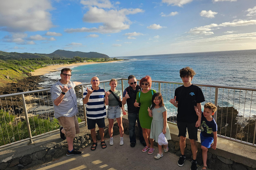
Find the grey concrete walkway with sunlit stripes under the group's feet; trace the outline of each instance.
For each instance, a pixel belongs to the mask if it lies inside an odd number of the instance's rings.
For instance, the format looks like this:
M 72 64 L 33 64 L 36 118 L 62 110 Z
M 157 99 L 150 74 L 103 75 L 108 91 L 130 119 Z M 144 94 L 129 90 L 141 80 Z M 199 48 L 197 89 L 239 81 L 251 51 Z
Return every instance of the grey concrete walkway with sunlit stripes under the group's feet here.
M 109 145 L 109 138 L 106 139 L 107 148 L 102 149 L 100 141 L 95 151 L 91 147 L 81 149 L 80 156 L 64 156 L 58 160 L 45 163 L 31 170 L 189 170 L 191 163 L 186 160 L 182 167 L 177 164 L 178 156 L 173 153 L 163 153 L 160 159 L 154 159 L 158 153 L 155 147 L 153 154 L 142 152 L 143 145 L 137 140 L 135 147 L 130 147 L 129 135 L 124 134 L 124 145 L 119 145 L 120 135 L 113 136 L 114 145 Z M 200 169 L 198 167 L 198 169 Z

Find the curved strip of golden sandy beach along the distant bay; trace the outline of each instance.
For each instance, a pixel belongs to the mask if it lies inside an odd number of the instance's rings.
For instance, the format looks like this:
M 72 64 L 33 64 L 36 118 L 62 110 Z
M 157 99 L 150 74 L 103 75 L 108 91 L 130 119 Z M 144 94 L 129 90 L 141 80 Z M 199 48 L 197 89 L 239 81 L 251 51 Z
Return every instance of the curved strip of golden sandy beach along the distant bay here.
M 114 61 L 107 61 L 107 62 L 114 62 Z M 107 63 L 107 62 L 104 62 L 104 63 Z M 102 62 L 80 62 L 80 63 L 74 63 L 74 64 L 48 65 L 46 67 L 34 70 L 34 72 L 31 72 L 31 75 L 39 76 L 39 75 L 44 75 L 50 72 L 60 71 L 62 68 L 70 68 L 78 65 L 98 64 L 98 63 L 102 63 Z

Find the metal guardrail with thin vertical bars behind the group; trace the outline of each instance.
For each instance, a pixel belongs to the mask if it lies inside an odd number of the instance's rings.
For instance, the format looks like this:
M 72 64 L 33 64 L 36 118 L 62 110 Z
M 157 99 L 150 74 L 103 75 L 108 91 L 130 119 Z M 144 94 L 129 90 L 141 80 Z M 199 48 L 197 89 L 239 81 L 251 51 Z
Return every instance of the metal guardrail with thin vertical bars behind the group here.
M 99 87 L 110 89 L 110 80 L 101 81 Z M 124 91 L 129 86 L 128 79 L 117 79 L 117 89 Z M 139 80 L 138 80 L 139 81 Z M 167 108 L 168 123 L 176 125 L 177 108 L 169 100 L 174 98 L 175 89 L 180 82 L 152 81 L 152 89 L 161 92 Z M 205 102 L 218 106 L 214 119 L 218 125 L 218 137 L 233 140 L 256 147 L 256 88 L 198 85 L 205 96 Z M 82 83 L 75 88 L 78 103 L 79 124 L 85 124 L 86 110 L 83 104 L 83 92 L 90 88 L 90 83 Z M 6 94 L 0 96 L 0 148 L 33 139 L 59 130 L 59 123 L 54 118 L 54 108 L 50 89 Z M 127 110 L 127 106 L 124 106 Z

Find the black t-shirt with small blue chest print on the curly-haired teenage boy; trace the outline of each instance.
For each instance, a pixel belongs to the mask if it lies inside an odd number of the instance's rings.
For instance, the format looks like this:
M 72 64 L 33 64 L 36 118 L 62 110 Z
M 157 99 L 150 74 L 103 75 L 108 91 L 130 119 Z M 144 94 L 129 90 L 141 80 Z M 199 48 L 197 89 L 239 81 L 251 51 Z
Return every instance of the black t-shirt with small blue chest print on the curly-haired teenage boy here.
M 200 87 L 191 85 L 180 86 L 175 90 L 176 101 L 178 101 L 177 121 L 194 123 L 198 120 L 194 106 L 205 101 Z

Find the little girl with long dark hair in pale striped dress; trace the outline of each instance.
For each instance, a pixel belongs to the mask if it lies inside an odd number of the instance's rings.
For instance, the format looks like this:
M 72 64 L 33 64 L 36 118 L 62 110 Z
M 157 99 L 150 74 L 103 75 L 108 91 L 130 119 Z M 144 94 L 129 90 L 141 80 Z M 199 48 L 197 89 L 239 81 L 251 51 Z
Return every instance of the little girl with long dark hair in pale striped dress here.
M 153 116 L 150 138 L 154 139 L 158 145 L 158 154 L 154 156 L 154 158 L 159 159 L 163 157 L 162 145 L 158 144 L 158 136 L 161 132 L 165 134 L 167 140 L 171 140 L 170 130 L 167 125 L 167 113 L 166 108 L 163 103 L 163 97 L 161 93 L 155 93 L 152 97 L 152 105 L 151 108 L 148 108 L 148 115 L 150 117 Z M 168 144 L 164 145 L 164 152 L 168 152 Z

